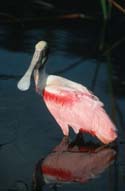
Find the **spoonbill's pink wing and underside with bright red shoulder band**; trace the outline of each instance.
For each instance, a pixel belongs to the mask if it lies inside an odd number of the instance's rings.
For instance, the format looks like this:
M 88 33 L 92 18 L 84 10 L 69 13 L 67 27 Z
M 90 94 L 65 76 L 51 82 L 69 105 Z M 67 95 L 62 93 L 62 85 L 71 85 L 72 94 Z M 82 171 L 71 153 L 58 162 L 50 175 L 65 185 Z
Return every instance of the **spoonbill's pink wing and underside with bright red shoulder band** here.
M 103 109 L 103 103 L 86 88 L 81 91 L 72 87 L 47 86 L 44 101 L 62 128 L 69 134 L 69 126 L 75 133 L 88 132 L 103 143 L 116 139 L 116 128 Z

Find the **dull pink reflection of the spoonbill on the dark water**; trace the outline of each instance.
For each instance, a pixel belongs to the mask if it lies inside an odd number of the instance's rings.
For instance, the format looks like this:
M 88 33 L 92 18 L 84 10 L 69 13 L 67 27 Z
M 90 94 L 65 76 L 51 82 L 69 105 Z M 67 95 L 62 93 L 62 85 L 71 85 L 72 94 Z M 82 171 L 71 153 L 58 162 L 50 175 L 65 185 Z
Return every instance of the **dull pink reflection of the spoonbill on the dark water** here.
M 43 185 L 57 186 L 64 183 L 86 183 L 108 168 L 116 157 L 110 146 L 84 143 L 81 135 L 69 143 L 64 137 L 61 143 L 41 159 L 33 173 L 33 190 Z

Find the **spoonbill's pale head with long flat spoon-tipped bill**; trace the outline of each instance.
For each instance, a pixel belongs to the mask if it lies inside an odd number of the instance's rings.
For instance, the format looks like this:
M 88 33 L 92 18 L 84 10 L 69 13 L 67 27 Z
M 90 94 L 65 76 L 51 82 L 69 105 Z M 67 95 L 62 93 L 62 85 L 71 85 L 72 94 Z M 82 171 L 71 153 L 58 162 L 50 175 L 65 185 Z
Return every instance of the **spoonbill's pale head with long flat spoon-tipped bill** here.
M 17 84 L 17 87 L 20 90 L 26 91 L 29 89 L 31 76 L 33 72 L 34 72 L 35 85 L 36 86 L 38 85 L 38 82 L 40 81 L 40 74 L 44 70 L 47 58 L 48 58 L 47 43 L 45 41 L 40 41 L 35 46 L 35 52 L 29 68 L 27 69 L 26 73 Z

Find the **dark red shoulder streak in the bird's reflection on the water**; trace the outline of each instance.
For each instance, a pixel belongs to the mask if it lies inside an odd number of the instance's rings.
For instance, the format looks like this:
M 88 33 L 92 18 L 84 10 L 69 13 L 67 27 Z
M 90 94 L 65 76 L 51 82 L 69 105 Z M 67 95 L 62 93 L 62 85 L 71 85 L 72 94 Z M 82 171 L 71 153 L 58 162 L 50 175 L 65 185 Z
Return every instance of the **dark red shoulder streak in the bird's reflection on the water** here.
M 72 178 L 72 174 L 69 171 L 66 171 L 64 169 L 57 169 L 57 168 L 52 168 L 47 165 L 44 165 L 41 167 L 42 168 L 42 173 L 45 175 L 50 175 L 50 176 L 55 176 L 60 180 L 67 180 Z

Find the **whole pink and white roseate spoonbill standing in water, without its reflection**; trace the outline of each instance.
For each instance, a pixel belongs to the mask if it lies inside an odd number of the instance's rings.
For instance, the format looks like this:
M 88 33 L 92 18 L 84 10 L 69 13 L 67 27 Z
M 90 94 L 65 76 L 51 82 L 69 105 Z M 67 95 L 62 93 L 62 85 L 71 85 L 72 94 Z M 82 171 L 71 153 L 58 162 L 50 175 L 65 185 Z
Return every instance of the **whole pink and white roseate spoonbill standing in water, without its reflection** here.
M 115 125 L 98 97 L 79 83 L 45 72 L 47 50 L 45 41 L 36 44 L 31 64 L 18 82 L 18 88 L 22 91 L 29 89 L 34 71 L 36 92 L 43 96 L 65 136 L 69 135 L 69 127 L 72 127 L 76 134 L 81 131 L 90 133 L 104 144 L 114 141 L 117 138 Z

